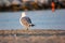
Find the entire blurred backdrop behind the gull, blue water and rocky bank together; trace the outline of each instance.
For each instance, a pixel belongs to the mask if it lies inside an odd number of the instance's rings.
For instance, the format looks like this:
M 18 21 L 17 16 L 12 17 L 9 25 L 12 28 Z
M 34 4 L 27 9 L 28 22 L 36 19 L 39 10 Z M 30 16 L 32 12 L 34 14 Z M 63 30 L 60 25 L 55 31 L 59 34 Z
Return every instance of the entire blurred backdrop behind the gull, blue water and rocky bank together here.
M 0 30 L 23 29 L 24 11 L 36 25 L 31 29 L 65 30 L 65 0 L 0 0 Z

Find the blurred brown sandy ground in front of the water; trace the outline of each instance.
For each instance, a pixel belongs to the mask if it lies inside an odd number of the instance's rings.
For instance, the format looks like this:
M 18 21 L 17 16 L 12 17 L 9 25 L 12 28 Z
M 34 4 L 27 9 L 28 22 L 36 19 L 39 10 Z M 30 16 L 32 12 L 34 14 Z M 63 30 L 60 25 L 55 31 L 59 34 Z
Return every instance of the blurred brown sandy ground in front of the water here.
M 65 30 L 0 30 L 0 43 L 65 43 Z

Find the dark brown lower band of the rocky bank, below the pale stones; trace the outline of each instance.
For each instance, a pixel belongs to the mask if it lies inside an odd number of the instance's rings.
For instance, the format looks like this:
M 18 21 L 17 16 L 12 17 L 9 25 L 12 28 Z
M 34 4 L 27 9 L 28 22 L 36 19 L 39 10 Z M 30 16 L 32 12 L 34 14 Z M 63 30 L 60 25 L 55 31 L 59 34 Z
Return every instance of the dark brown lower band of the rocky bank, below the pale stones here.
M 28 11 L 32 11 L 32 10 L 51 10 L 51 3 L 52 3 L 52 1 L 49 1 L 48 3 L 27 1 L 27 2 L 22 2 L 22 4 L 11 4 L 9 6 L 3 4 L 2 6 L 0 5 L 0 12 L 27 11 L 27 10 Z M 65 1 L 63 1 L 63 2 L 56 1 L 54 3 L 55 3 L 55 9 L 65 9 Z

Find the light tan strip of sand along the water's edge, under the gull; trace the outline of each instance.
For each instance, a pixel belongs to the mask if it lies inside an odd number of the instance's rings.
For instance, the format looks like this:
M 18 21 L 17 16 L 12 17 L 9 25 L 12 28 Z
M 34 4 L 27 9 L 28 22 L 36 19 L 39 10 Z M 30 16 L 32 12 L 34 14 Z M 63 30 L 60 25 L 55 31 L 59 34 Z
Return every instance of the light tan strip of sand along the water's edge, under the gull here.
M 65 30 L 43 30 L 43 29 L 35 29 L 35 30 L 0 30 L 0 35 L 10 35 L 10 34 L 20 34 L 20 35 L 65 35 Z

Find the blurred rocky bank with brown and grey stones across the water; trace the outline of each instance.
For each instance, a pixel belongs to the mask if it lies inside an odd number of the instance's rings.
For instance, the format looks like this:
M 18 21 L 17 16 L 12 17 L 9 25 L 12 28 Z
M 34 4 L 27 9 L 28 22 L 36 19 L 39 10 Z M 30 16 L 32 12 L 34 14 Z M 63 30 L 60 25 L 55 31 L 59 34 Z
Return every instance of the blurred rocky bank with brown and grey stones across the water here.
M 65 0 L 0 0 L 0 12 L 50 10 L 52 2 L 55 9 L 65 9 Z

